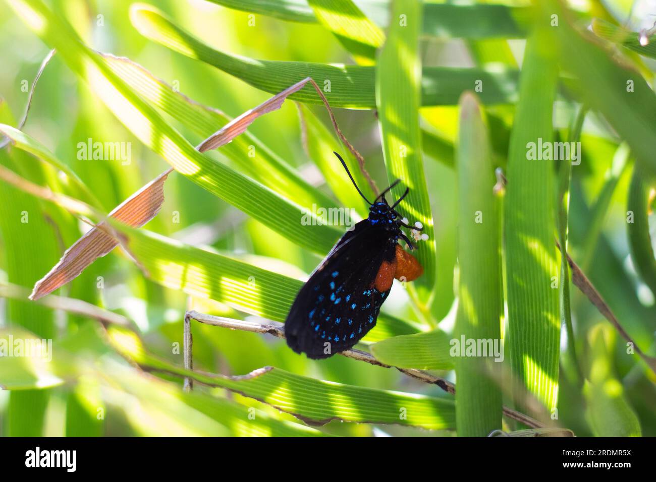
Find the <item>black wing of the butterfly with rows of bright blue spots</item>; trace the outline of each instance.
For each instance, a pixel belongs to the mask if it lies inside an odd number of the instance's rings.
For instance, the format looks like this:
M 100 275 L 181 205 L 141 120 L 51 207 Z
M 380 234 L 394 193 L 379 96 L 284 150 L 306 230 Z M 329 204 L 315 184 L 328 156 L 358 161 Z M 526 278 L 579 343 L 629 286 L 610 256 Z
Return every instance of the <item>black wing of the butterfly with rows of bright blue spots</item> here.
M 390 290 L 373 284 L 395 254 L 394 231 L 368 219 L 344 234 L 297 294 L 285 321 L 289 347 L 319 359 L 354 346 L 376 324 Z

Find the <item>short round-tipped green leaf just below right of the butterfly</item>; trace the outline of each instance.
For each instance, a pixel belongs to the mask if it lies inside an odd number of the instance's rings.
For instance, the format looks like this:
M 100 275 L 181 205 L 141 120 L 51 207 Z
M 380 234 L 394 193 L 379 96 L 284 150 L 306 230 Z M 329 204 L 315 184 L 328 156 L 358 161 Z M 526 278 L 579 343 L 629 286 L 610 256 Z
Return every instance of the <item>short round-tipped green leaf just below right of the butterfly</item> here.
M 371 346 L 378 361 L 399 368 L 453 370 L 449 336 L 439 330 L 394 336 Z

